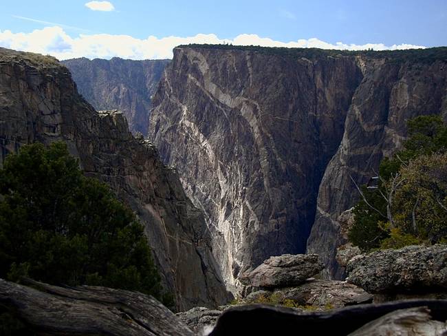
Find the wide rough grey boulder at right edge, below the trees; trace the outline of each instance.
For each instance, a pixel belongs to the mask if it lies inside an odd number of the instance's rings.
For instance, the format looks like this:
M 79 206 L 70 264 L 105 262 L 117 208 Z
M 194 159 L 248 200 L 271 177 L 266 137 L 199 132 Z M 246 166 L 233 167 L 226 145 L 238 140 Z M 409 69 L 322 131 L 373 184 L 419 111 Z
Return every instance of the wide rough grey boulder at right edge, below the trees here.
M 406 246 L 358 255 L 348 282 L 369 293 L 437 293 L 447 288 L 447 246 Z

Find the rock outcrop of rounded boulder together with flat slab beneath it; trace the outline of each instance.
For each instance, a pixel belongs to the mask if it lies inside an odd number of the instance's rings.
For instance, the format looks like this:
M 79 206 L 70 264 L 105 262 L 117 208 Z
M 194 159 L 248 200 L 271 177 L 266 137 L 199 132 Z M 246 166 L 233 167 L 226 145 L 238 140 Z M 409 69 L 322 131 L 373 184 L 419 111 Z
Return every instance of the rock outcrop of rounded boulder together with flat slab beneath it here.
M 268 303 L 327 310 L 372 302 L 373 295 L 353 284 L 312 277 L 323 269 L 318 255 L 280 255 L 241 277 L 239 304 Z M 312 277 L 312 278 L 311 278 Z

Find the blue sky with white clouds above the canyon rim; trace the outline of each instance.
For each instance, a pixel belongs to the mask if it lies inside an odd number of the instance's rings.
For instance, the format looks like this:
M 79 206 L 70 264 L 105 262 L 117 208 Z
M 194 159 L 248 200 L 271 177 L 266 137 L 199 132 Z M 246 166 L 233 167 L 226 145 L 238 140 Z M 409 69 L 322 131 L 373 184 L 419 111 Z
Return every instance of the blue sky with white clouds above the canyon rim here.
M 210 36 L 201 35 L 197 40 L 205 42 L 226 39 L 236 44 L 271 45 L 299 40 L 301 43 L 290 46 L 321 48 L 337 47 L 338 42 L 342 45 L 337 48 L 368 43 L 377 45 L 375 49 L 447 45 L 447 0 L 111 0 L 108 7 L 102 6 L 109 11 L 91 10 L 86 3 L 87 0 L 8 1 L 7 6 L 1 6 L 0 45 L 47 52 L 60 58 L 137 59 L 164 57 L 169 51 L 162 48 L 196 41 L 180 38 L 197 34 Z M 33 31 L 42 33 L 30 35 Z M 122 35 L 127 35 L 125 41 Z M 243 39 L 237 39 L 241 35 Z M 84 36 L 83 41 L 80 36 Z M 149 36 L 157 41 L 148 42 Z M 159 41 L 168 36 L 178 39 Z M 272 41 L 262 40 L 265 38 Z M 113 43 L 124 47 L 119 50 Z M 151 48 L 155 51 L 150 52 Z M 132 54 L 131 50 L 136 51 Z

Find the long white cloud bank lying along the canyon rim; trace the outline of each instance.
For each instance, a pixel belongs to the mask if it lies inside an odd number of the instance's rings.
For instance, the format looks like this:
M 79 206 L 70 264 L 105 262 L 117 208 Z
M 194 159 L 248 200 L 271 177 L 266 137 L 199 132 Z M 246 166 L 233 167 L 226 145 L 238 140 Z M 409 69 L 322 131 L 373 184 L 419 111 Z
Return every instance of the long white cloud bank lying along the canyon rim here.
M 197 34 L 189 37 L 167 36 L 147 39 L 135 39 L 129 35 L 110 34 L 80 34 L 69 36 L 61 27 L 45 27 L 30 33 L 14 33 L 10 30 L 0 30 L 0 46 L 14 50 L 50 54 L 58 59 L 87 57 L 89 59 L 111 59 L 118 56 L 123 59 L 171 59 L 175 46 L 188 43 L 232 43 L 233 45 L 262 45 L 265 47 L 286 48 L 322 48 L 339 50 L 397 50 L 424 48 L 421 45 L 389 45 L 383 43 L 367 43 L 364 45 L 335 44 L 319 39 L 300 39 L 298 41 L 281 42 L 259 37 L 256 34 L 241 34 L 234 39 L 219 39 L 215 34 Z

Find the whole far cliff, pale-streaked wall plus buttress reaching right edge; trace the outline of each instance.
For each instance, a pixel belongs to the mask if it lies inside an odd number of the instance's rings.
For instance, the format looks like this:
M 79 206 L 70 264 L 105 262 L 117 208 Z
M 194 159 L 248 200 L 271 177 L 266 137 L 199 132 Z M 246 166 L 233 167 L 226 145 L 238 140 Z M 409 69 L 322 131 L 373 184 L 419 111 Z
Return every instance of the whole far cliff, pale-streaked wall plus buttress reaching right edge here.
M 175 48 L 149 137 L 206 214 L 229 288 L 270 255 L 306 247 L 340 275 L 337 218 L 358 197 L 351 177 L 374 174 L 408 118 L 445 112 L 446 56 Z

